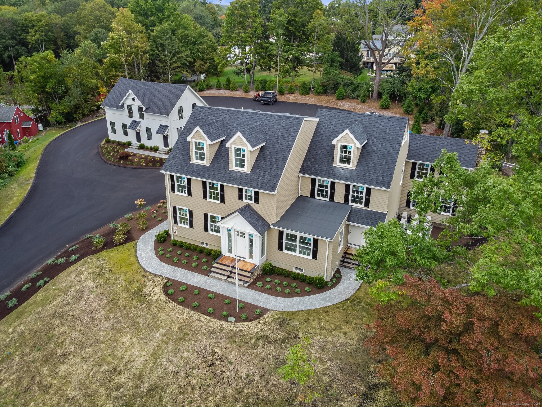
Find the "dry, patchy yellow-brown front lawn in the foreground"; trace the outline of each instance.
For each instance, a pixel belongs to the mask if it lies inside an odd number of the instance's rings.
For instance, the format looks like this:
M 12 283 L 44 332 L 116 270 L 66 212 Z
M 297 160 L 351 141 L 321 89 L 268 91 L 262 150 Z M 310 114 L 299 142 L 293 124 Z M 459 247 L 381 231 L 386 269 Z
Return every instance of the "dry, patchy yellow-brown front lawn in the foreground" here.
M 171 303 L 164 282 L 135 242 L 51 280 L 0 321 L 0 406 L 289 406 L 296 386 L 276 370 L 304 335 L 323 385 L 311 405 L 400 405 L 363 346 L 365 285 L 332 307 L 234 324 Z

